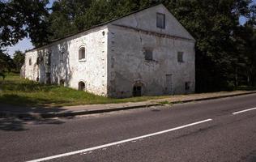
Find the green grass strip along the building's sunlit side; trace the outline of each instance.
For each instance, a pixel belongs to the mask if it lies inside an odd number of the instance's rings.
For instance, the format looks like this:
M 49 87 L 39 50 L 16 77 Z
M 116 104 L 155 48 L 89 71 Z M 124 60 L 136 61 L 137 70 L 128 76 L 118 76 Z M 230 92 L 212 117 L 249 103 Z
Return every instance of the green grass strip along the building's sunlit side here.
M 45 85 L 28 79 L 20 79 L 19 75 L 9 73 L 3 81 L 0 79 L 0 103 L 25 106 L 67 106 L 79 104 L 110 104 L 137 102 L 166 98 L 167 96 L 141 96 L 126 99 L 113 99 L 81 92 L 69 87 Z

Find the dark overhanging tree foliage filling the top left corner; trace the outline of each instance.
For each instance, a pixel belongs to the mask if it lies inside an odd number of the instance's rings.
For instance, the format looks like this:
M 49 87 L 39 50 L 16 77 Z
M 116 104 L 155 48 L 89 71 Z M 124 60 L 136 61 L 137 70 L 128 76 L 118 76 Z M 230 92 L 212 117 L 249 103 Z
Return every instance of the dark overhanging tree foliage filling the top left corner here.
M 0 48 L 29 36 L 33 45 L 48 42 L 48 0 L 0 1 Z

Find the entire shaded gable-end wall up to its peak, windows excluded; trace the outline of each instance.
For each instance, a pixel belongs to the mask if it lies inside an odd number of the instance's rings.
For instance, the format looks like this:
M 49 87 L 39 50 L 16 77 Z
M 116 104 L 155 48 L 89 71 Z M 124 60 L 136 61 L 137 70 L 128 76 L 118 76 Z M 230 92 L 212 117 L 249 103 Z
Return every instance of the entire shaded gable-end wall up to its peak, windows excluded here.
M 165 15 L 164 29 L 156 28 L 156 13 Z M 109 24 L 109 96 L 132 96 L 134 83 L 143 83 L 143 95 L 194 92 L 194 38 L 162 5 Z M 153 50 L 146 61 L 144 49 Z M 183 52 L 184 62 L 177 62 Z M 166 75 L 172 75 L 170 85 Z M 190 89 L 186 90 L 186 82 Z

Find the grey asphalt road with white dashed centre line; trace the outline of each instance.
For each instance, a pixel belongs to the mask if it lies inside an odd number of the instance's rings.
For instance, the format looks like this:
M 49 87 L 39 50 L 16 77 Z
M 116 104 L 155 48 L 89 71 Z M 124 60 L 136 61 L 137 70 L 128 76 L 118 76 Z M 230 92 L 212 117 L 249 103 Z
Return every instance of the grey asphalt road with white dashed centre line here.
M 0 161 L 256 162 L 254 108 L 256 95 L 246 95 L 70 119 L 1 119 Z

